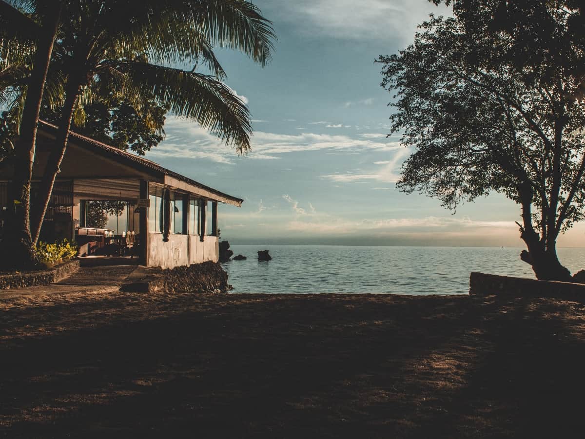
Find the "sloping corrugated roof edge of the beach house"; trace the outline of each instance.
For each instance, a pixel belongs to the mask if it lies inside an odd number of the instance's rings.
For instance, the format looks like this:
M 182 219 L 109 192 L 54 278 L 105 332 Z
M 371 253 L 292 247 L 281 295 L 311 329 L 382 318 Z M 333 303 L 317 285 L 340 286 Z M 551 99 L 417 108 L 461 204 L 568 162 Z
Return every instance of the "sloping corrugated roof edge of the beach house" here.
M 39 128 L 44 129 L 47 132 L 52 133 L 53 135 L 56 134 L 58 127 L 53 124 L 49 124 L 49 122 L 39 121 Z M 133 167 L 142 167 L 145 169 L 146 172 L 157 172 L 165 176 L 173 177 L 174 179 L 184 181 L 185 183 L 192 184 L 195 187 L 207 190 L 213 194 L 216 194 L 220 197 L 229 198 L 236 203 L 243 203 L 244 200 L 242 198 L 232 197 L 228 194 L 225 194 L 221 191 L 218 191 L 212 187 L 205 186 L 205 184 L 201 184 L 198 181 L 192 180 L 189 177 L 185 177 L 181 174 L 171 171 L 170 169 L 166 169 L 165 167 L 160 166 L 160 164 L 153 162 L 152 160 L 144 159 L 144 157 L 137 156 L 135 154 L 129 153 L 122 149 L 116 148 L 115 146 L 106 145 L 105 143 L 98 142 L 95 139 L 92 139 L 87 136 L 83 136 L 80 133 L 76 133 L 74 131 L 69 132 L 70 138 L 75 139 L 75 144 L 81 147 L 91 148 L 96 152 L 104 152 L 105 155 L 115 156 L 116 159 L 122 159 L 124 164 L 128 164 L 129 166 Z

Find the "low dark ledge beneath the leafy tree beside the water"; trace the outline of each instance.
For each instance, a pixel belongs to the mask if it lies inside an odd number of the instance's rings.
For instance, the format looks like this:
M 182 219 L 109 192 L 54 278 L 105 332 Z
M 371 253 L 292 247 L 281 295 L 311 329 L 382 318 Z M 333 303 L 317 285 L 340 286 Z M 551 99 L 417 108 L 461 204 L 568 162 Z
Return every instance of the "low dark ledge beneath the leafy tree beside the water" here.
M 585 300 L 585 284 L 474 272 L 469 276 L 469 294 L 472 296 L 498 294 L 507 297 L 556 297 L 581 301 Z

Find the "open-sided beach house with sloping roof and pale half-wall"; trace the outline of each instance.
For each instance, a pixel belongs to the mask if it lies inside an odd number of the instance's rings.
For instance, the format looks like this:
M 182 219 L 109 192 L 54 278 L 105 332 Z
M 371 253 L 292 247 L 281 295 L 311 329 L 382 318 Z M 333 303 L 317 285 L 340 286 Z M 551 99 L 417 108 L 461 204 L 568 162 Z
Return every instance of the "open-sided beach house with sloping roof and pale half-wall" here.
M 32 199 L 57 127 L 40 122 Z M 10 160 L 0 163 L 0 209 L 10 208 Z M 97 227 L 92 208 L 117 201 Z M 41 229 L 41 239 L 73 239 L 80 255 L 139 258 L 172 268 L 219 259 L 218 204 L 243 200 L 168 170 L 144 157 L 71 132 Z M 1 227 L 1 219 L 0 219 Z

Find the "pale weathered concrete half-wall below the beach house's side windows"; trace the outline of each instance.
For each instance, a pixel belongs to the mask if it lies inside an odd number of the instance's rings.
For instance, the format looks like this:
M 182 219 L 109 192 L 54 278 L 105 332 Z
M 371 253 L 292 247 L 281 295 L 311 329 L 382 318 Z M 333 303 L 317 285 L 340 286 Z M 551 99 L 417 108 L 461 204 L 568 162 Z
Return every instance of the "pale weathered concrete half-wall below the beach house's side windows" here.
M 163 242 L 163 234 L 150 232 L 146 265 L 149 267 L 174 268 L 180 265 L 218 262 L 219 239 L 217 236 L 168 235 Z

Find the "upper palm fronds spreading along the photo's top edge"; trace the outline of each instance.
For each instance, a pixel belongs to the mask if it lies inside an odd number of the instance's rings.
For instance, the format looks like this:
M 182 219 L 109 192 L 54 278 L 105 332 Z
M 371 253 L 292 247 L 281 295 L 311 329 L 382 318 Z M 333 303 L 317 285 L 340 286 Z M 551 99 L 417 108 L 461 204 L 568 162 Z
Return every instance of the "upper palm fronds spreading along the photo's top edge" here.
M 215 44 L 240 50 L 262 65 L 271 59 L 276 38 L 272 23 L 245 0 L 127 0 L 123 4 L 132 11 L 129 16 L 113 2 L 98 21 L 109 29 L 102 37 L 126 50 L 122 57 L 140 50 L 155 63 L 190 64 L 201 57 L 219 78 L 224 75 L 212 52 Z

